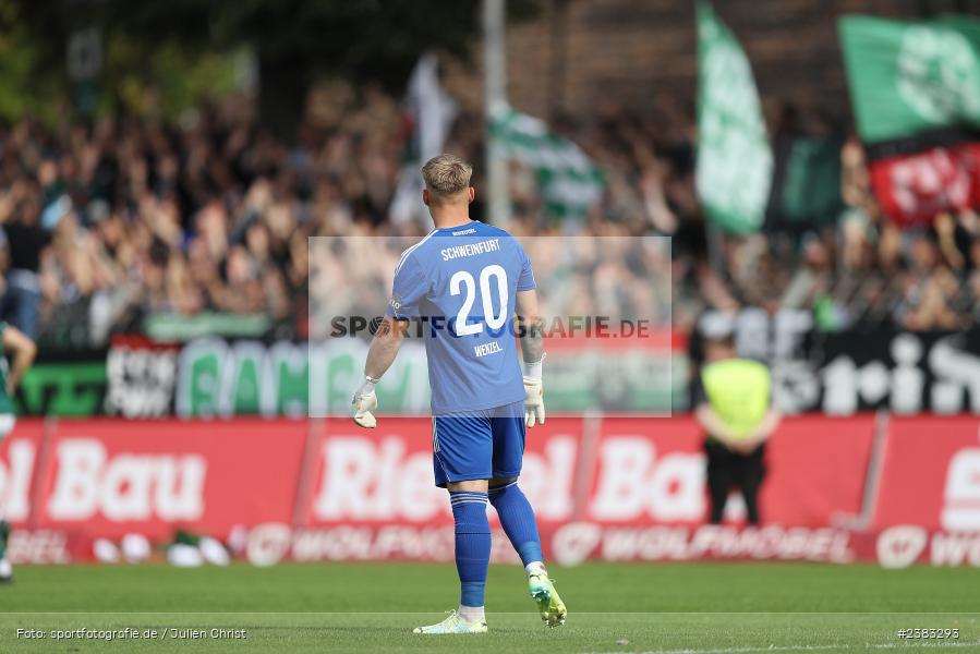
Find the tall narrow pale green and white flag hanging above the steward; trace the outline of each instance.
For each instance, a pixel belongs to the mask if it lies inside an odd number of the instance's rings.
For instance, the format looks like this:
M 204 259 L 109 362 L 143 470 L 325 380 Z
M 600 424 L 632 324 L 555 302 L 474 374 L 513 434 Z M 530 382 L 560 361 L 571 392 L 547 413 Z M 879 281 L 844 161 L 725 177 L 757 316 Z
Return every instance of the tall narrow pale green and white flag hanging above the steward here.
M 726 230 L 757 231 L 773 155 L 749 60 L 707 2 L 698 4 L 698 196 Z

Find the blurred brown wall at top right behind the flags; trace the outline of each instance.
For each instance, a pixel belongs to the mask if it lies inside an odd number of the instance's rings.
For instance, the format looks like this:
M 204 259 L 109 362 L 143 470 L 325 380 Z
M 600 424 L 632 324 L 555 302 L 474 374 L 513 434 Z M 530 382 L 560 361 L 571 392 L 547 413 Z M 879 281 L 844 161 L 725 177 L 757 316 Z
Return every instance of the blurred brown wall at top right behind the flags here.
M 980 14 L 980 0 L 715 0 L 714 5 L 748 51 L 766 105 L 794 100 L 844 118 L 849 100 L 838 15 Z M 593 112 L 609 101 L 640 110 L 657 100 L 689 106 L 697 84 L 694 2 L 543 0 L 537 19 L 511 27 L 508 57 L 512 104 L 540 116 Z

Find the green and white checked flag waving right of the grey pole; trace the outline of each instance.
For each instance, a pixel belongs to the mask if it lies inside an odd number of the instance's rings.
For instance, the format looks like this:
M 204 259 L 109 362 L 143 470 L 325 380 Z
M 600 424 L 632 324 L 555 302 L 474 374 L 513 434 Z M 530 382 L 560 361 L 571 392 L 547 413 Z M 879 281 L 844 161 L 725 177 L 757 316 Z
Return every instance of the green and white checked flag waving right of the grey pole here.
M 548 216 L 584 216 L 602 197 L 603 175 L 592 159 L 543 121 L 505 108 L 492 117 L 489 133 L 509 158 L 534 170 Z

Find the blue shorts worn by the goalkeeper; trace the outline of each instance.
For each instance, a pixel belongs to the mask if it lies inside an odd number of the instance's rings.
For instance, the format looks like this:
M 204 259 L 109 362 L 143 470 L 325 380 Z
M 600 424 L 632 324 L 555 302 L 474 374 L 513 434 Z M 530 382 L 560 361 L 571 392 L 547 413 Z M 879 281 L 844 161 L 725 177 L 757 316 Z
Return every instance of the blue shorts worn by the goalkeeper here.
M 524 402 L 432 419 L 436 486 L 521 474 Z

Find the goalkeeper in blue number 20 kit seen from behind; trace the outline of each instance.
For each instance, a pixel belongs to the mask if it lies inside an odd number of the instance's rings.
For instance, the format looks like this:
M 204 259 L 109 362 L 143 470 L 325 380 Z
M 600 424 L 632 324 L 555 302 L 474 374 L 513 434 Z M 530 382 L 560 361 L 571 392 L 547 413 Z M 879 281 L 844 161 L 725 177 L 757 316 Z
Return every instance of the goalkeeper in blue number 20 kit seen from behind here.
M 525 426 L 545 421 L 543 322 L 534 274 L 513 237 L 470 220 L 471 173 L 472 167 L 452 155 L 422 168 L 422 199 L 436 229 L 401 255 L 391 301 L 353 400 L 354 422 L 375 427 L 374 387 L 395 361 L 408 320 L 420 319 L 432 386 L 433 469 L 452 505 L 460 602 L 448 618 L 415 633 L 486 631 L 487 501 L 524 564 L 542 620 L 557 627 L 567 613 L 544 567 L 534 511 L 518 486 Z

